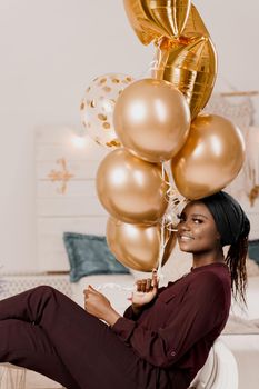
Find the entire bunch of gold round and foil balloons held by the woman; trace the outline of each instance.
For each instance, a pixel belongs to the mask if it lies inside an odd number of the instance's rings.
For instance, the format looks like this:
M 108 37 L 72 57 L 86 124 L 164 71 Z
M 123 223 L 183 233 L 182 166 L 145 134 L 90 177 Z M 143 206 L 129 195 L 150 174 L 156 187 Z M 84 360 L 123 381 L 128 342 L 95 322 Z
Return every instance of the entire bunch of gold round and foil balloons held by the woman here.
M 167 261 L 175 245 L 161 222 L 171 190 L 165 162 L 170 161 L 178 191 L 199 199 L 238 174 L 245 143 L 229 120 L 200 113 L 212 92 L 217 58 L 191 0 L 124 0 L 124 7 L 140 41 L 153 41 L 156 66 L 151 78 L 130 79 L 113 97 L 107 129 L 116 150 L 99 166 L 97 192 L 110 213 L 111 251 L 127 267 L 149 271 Z M 91 106 L 89 96 L 86 101 Z M 82 113 L 90 129 L 96 119 L 86 119 L 86 101 Z

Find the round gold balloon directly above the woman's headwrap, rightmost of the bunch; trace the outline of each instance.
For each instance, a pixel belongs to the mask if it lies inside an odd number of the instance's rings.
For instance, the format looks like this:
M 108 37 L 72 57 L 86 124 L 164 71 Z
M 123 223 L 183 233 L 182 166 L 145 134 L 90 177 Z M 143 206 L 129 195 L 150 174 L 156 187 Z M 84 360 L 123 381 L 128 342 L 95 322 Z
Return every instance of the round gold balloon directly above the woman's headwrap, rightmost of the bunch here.
M 243 160 L 240 130 L 220 116 L 200 114 L 192 121 L 183 148 L 171 160 L 171 170 L 179 192 L 195 200 L 225 188 Z

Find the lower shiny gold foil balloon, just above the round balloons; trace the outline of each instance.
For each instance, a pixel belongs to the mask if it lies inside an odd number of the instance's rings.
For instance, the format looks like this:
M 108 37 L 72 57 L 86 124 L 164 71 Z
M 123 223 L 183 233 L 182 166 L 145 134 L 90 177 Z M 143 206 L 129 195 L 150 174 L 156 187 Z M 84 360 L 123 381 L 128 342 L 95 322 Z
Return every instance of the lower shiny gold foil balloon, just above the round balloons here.
M 183 93 L 192 119 L 207 104 L 216 74 L 217 56 L 209 37 L 160 41 L 152 76 L 171 82 Z

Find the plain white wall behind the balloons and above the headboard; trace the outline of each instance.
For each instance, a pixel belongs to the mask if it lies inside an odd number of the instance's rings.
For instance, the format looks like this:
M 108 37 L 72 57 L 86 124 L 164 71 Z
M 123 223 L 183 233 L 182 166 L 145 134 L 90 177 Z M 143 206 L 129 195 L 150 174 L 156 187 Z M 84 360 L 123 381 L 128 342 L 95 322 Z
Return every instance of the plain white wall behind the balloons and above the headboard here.
M 258 90 L 258 1 L 195 3 L 217 46 L 221 78 Z M 122 0 L 0 0 L 2 271 L 37 269 L 34 128 L 80 126 L 88 83 L 108 72 L 141 77 L 152 53 L 131 30 Z

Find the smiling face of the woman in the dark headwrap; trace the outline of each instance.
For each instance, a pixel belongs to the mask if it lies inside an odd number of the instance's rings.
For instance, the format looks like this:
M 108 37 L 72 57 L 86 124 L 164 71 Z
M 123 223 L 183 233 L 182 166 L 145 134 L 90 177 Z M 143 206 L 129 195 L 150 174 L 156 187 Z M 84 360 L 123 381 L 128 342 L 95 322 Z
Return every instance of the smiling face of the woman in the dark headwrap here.
M 189 202 L 179 219 L 177 238 L 182 251 L 201 253 L 219 247 L 220 235 L 215 219 L 202 202 Z

